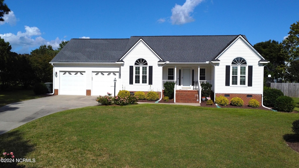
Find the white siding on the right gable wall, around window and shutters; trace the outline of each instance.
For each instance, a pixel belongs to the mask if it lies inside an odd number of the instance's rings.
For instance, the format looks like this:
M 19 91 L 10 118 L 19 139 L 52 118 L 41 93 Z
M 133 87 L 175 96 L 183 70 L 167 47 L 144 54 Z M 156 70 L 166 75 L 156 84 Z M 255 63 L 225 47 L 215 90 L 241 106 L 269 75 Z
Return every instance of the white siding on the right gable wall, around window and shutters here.
M 262 79 L 263 79 L 263 65 L 258 64 L 260 58 L 251 50 L 248 46 L 249 44 L 242 39 L 237 39 L 218 59 L 220 60 L 219 65 L 216 65 L 216 92 L 217 93 L 243 93 L 243 94 L 261 94 L 262 93 Z M 232 71 L 234 65 L 231 65 L 231 62 L 237 58 L 242 57 L 246 59 L 247 66 L 246 75 L 245 75 L 245 85 L 232 85 Z M 231 65 L 230 68 L 230 86 L 225 86 L 225 66 Z M 252 86 L 247 86 L 248 83 L 248 65 L 253 66 L 253 77 L 252 77 Z M 238 81 L 240 83 L 240 67 L 238 67 Z M 244 81 L 242 81 L 244 82 Z M 241 83 L 242 83 L 241 82 Z

